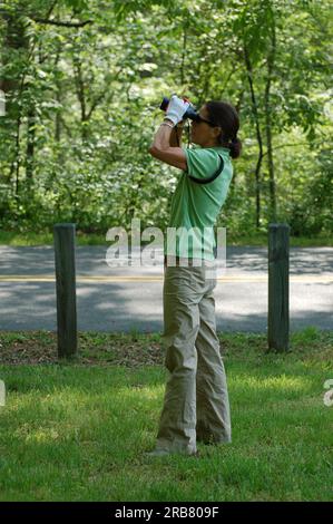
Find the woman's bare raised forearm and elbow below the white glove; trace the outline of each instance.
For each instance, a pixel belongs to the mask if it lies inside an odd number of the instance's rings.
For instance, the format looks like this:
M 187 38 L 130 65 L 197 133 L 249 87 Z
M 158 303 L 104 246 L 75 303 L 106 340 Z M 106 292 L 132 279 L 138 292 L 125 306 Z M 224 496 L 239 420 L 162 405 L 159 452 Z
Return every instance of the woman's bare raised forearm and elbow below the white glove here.
M 170 123 L 169 120 L 165 122 Z M 150 155 L 155 158 L 165 162 L 166 164 L 169 164 L 174 167 L 177 167 L 178 169 L 186 171 L 187 164 L 185 153 L 182 147 L 174 145 L 177 140 L 176 133 L 178 133 L 178 136 L 180 134 L 182 137 L 182 132 L 183 128 L 177 132 L 175 127 L 172 128 L 170 126 L 166 125 L 159 126 L 154 137 L 153 145 L 149 147 L 148 151 Z

